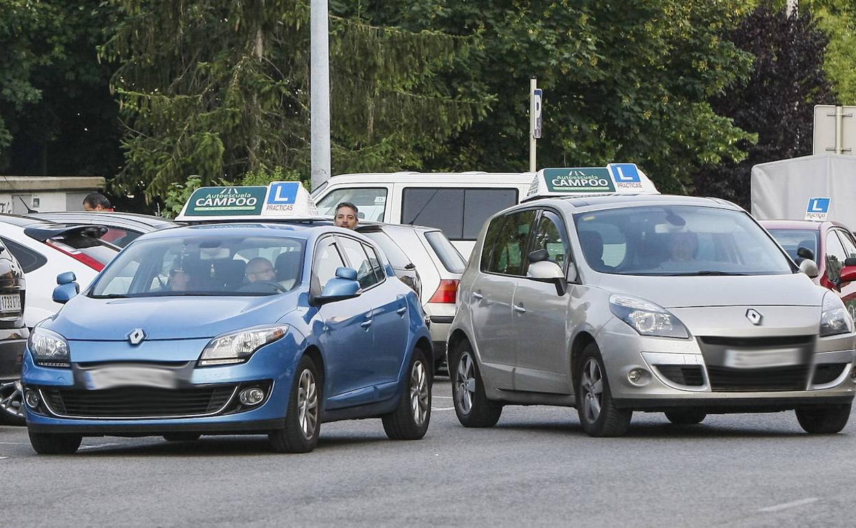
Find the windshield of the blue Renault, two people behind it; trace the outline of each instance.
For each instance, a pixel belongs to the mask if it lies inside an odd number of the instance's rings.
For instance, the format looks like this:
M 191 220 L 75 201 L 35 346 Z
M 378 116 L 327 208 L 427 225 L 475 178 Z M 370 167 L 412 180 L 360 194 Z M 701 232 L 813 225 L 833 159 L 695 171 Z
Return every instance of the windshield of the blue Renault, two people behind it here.
M 140 240 L 98 276 L 90 296 L 278 294 L 300 284 L 304 246 L 284 237 Z

